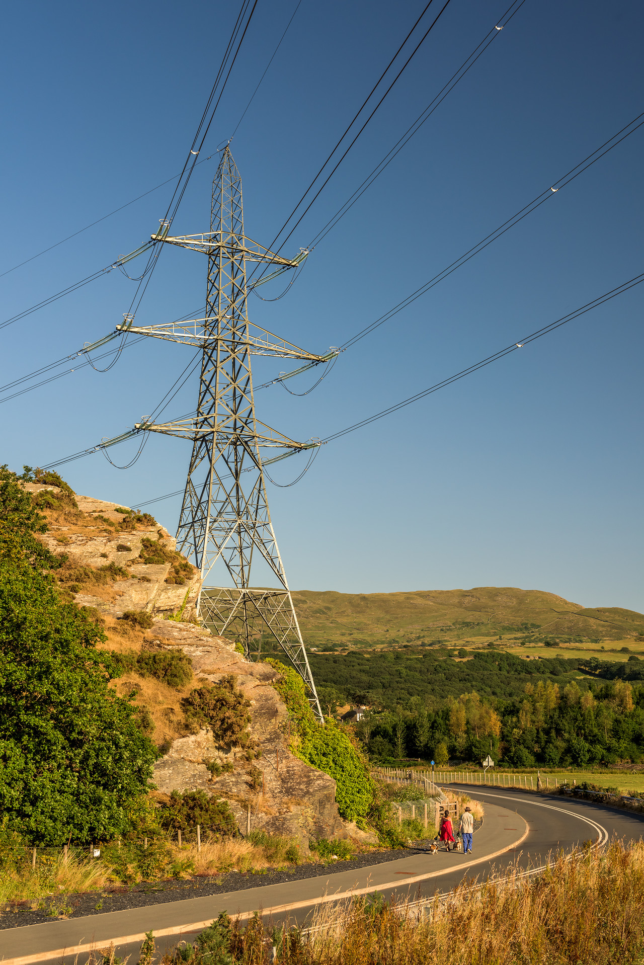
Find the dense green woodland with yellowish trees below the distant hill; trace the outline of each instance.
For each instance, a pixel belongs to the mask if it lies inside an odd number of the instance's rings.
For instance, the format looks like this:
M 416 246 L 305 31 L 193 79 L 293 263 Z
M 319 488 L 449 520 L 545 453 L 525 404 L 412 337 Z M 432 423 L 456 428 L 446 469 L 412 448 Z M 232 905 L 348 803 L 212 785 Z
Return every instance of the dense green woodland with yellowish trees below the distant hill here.
M 495 760 L 526 767 L 644 758 L 644 662 L 500 650 L 455 660 L 435 650 L 312 654 L 325 709 L 371 707 L 357 731 L 375 760 Z

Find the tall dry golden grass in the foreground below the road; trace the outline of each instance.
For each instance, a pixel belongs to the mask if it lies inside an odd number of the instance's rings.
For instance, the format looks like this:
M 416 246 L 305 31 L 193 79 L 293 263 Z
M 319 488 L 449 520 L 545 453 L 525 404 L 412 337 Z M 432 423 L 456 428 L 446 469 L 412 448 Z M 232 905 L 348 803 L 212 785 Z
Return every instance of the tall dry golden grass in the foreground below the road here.
M 424 906 L 378 896 L 325 904 L 306 932 L 256 916 L 232 924 L 217 956 L 208 942 L 189 958 L 186 947 L 170 951 L 163 965 L 223 965 L 225 955 L 267 965 L 273 947 L 280 965 L 634 965 L 644 960 L 644 843 L 561 854 L 532 878 L 517 866 Z

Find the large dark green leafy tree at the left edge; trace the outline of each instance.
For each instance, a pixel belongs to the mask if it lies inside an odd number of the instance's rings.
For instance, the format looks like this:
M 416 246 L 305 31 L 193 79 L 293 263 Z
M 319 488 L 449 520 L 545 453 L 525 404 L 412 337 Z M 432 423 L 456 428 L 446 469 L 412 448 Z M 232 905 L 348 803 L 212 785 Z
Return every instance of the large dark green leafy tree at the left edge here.
M 0 467 L 0 813 L 34 843 L 104 840 L 126 828 L 155 752 L 108 686 L 101 628 L 43 570 L 44 529 Z

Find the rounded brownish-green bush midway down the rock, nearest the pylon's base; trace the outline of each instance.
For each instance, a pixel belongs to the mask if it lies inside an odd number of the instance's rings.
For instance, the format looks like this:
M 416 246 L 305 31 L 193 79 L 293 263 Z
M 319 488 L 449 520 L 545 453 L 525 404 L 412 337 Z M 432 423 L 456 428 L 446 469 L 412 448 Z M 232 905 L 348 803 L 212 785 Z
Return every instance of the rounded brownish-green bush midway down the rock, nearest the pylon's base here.
M 212 736 L 220 746 L 238 744 L 246 747 L 251 743 L 248 701 L 238 690 L 234 674 L 223 676 L 218 683 L 197 687 L 182 700 L 183 713 L 188 726 L 209 726 Z

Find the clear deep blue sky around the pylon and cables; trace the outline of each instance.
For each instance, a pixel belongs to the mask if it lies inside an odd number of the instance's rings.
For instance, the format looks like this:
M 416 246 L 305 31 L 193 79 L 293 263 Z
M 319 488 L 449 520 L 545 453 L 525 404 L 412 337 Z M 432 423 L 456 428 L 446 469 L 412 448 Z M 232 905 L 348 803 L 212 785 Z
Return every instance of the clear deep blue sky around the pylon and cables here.
M 509 3 L 451 0 L 286 255 L 320 231 Z M 205 154 L 231 136 L 295 6 L 259 0 Z M 423 7 L 302 0 L 232 143 L 247 234 L 271 241 Z M 181 170 L 237 13 L 204 0 L 5 10 L 0 272 Z M 525 0 L 315 248 L 289 294 L 251 296 L 251 319 L 322 352 L 432 278 L 644 111 L 643 27 L 635 0 Z M 323 437 L 641 272 L 643 145 L 644 127 L 344 353 L 315 392 L 258 393 L 259 418 L 292 438 Z M 173 233 L 209 230 L 216 160 L 196 169 Z M 165 185 L 0 277 L 2 319 L 143 243 L 171 193 Z M 191 317 L 204 304 L 205 269 L 203 256 L 164 250 L 137 321 Z M 282 290 L 273 285 L 266 297 Z M 1 330 L 2 385 L 111 331 L 133 290 L 113 271 Z M 514 586 L 644 611 L 643 298 L 636 287 L 323 447 L 293 488 L 270 485 L 291 586 Z M 5 401 L 1 460 L 43 465 L 124 431 L 190 357 L 147 340 L 110 372 L 86 368 Z M 255 381 L 286 368 L 258 360 Z M 304 392 L 314 380 L 301 376 L 290 388 Z M 195 398 L 193 379 L 164 418 L 190 411 Z M 135 451 L 128 442 L 110 452 L 125 464 Z M 189 455 L 189 443 L 153 436 L 129 470 L 97 454 L 61 473 L 78 492 L 134 506 L 182 488 Z M 290 482 L 300 458 L 276 466 L 273 478 Z M 180 503 L 151 510 L 172 530 Z

